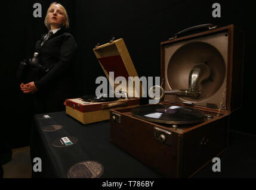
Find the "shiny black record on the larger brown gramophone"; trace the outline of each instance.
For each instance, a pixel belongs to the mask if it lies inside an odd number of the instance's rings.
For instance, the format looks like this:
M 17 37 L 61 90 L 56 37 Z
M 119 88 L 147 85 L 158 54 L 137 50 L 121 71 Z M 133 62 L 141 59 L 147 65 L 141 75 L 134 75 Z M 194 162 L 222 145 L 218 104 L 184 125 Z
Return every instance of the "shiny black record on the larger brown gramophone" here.
M 137 118 L 162 124 L 195 124 L 205 119 L 200 110 L 171 105 L 138 106 L 131 112 Z

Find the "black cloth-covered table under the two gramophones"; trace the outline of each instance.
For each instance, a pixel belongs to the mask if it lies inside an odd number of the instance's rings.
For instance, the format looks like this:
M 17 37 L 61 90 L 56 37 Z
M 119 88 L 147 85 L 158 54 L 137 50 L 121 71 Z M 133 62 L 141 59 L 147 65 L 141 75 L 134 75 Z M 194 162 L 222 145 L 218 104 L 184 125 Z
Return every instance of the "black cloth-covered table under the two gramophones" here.
M 50 118 L 45 119 L 44 115 Z M 45 126 L 51 125 L 61 128 L 45 131 Z M 104 171 L 100 178 L 162 178 L 112 144 L 109 131 L 109 121 L 83 125 L 65 112 L 35 115 L 30 153 L 32 166 L 35 157 L 41 159 L 42 172 L 32 171 L 32 178 L 67 178 L 70 167 L 85 161 L 102 164 Z M 54 141 L 63 137 L 74 137 L 77 142 L 67 147 L 55 147 Z M 229 148 L 219 156 L 221 172 L 212 172 L 214 163 L 209 163 L 193 178 L 255 178 L 256 153 L 252 151 L 255 142 L 255 135 L 230 131 Z

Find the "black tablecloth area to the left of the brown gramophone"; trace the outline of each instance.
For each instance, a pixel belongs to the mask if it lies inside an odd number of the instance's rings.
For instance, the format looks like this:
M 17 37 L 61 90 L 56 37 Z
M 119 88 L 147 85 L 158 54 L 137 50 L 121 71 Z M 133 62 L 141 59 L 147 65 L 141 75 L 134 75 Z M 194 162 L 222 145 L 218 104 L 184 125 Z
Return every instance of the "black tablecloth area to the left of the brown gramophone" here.
M 48 115 L 50 119 L 44 119 Z M 45 126 L 61 125 L 58 131 L 43 131 Z M 91 160 L 103 164 L 101 178 L 159 178 L 158 173 L 110 143 L 110 122 L 103 121 L 83 125 L 67 116 L 65 112 L 35 115 L 32 125 L 31 160 L 42 160 L 42 172 L 33 172 L 32 177 L 67 178 L 74 164 Z M 76 137 L 78 142 L 69 147 L 54 147 L 58 138 Z

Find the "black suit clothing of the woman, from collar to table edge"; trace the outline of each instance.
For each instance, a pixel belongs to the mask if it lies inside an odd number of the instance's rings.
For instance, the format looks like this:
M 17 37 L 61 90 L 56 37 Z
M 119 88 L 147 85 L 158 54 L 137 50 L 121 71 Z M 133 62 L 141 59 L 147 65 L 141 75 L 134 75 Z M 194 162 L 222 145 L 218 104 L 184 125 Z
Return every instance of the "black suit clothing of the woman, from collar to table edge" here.
M 44 77 L 35 81 L 36 105 L 44 107 L 38 112 L 63 110 L 64 99 L 72 96 L 72 66 L 77 49 L 75 38 L 62 28 L 53 34 L 41 47 L 44 39 L 36 42 L 39 64 L 50 68 Z M 46 107 L 46 108 L 45 108 Z

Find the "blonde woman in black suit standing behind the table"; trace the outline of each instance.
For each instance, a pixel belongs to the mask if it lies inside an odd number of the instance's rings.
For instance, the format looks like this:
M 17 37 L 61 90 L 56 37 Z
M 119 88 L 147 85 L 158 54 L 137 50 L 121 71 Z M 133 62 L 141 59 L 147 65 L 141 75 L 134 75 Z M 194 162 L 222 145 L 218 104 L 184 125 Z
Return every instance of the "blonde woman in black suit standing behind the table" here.
M 39 64 L 49 71 L 39 80 L 20 84 L 23 93 L 34 94 L 36 113 L 64 110 L 64 100 L 72 93 L 69 70 L 77 47 L 74 37 L 66 30 L 69 18 L 61 4 L 53 2 L 50 5 L 45 26 L 49 33 L 36 42 L 36 52 Z

